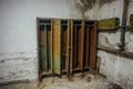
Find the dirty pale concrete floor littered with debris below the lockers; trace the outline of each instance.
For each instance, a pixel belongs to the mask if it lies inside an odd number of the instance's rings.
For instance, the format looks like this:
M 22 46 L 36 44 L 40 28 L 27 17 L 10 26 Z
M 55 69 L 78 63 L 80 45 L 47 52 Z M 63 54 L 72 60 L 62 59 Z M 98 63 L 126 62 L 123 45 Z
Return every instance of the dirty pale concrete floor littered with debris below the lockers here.
M 0 86 L 0 89 L 124 89 L 111 80 L 101 76 L 86 75 L 81 78 L 76 75 L 72 81 L 66 77 L 44 78 L 40 87 L 37 82 L 16 83 L 9 86 Z

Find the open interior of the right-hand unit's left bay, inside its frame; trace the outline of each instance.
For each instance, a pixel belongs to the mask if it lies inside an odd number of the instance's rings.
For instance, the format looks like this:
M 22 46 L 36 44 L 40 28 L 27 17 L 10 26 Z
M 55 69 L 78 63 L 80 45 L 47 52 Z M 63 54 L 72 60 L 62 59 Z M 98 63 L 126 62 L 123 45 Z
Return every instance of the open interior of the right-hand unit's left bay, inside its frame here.
M 83 28 L 82 20 L 73 20 L 73 69 L 82 69 L 82 43 L 83 43 Z

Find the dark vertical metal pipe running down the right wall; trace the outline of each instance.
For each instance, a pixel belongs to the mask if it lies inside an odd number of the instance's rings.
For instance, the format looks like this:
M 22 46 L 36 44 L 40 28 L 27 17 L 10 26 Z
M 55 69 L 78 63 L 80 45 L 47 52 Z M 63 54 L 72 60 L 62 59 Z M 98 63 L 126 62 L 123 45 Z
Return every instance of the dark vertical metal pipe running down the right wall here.
M 120 38 L 120 43 L 119 43 L 119 47 L 120 47 L 121 50 L 124 50 L 124 47 L 125 47 L 125 31 L 126 31 L 127 9 L 129 9 L 129 0 L 124 0 L 124 2 L 123 2 L 123 13 L 122 13 L 121 38 Z

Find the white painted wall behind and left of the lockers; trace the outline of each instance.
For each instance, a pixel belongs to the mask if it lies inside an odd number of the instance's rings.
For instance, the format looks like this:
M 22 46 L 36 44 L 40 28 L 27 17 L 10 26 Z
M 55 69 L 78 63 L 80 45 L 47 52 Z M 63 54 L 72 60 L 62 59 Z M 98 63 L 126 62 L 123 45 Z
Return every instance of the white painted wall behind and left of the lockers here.
M 0 82 L 38 78 L 37 17 L 81 14 L 73 0 L 0 0 Z

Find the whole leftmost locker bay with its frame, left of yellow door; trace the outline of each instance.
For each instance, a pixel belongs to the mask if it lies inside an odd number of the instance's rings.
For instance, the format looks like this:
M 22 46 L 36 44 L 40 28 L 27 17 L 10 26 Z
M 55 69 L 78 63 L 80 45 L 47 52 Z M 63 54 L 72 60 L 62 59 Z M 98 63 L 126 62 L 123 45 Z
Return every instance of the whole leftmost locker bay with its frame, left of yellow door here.
M 38 18 L 39 77 L 50 75 L 52 67 L 52 19 Z

